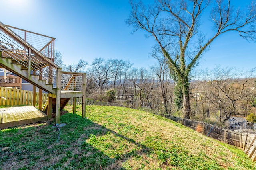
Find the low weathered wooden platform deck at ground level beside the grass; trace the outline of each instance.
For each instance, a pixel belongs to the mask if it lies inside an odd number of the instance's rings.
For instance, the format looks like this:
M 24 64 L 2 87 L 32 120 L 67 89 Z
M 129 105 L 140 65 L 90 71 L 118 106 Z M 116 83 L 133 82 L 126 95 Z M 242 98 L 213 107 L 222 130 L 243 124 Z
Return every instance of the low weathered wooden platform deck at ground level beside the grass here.
M 46 120 L 47 115 L 33 106 L 0 108 L 0 129 Z

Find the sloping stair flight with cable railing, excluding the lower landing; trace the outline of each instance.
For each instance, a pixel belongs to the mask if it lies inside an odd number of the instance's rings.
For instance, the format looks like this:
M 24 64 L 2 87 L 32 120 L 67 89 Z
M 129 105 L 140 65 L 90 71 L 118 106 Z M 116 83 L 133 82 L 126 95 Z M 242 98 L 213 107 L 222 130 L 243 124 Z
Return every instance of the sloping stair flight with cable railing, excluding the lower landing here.
M 19 33 L 23 31 L 24 38 L 20 37 L 14 31 Z M 42 51 L 54 51 L 52 50 L 54 38 L 43 35 L 38 35 L 34 39 L 30 38 L 30 42 L 35 44 L 36 42 L 34 41 L 36 41 L 36 38 L 48 38 L 46 39 L 46 45 L 42 43 L 41 46 L 43 48 L 38 46 L 38 49 L 36 49 L 25 41 L 28 39 L 29 33 L 30 37 L 33 34 L 37 35 L 30 31 L 8 27 L 0 22 L 0 65 L 40 89 L 51 94 L 56 94 L 56 89 L 53 88 L 53 75 L 56 75 L 56 70 L 59 66 L 53 62 L 53 52 L 47 57 L 42 53 Z

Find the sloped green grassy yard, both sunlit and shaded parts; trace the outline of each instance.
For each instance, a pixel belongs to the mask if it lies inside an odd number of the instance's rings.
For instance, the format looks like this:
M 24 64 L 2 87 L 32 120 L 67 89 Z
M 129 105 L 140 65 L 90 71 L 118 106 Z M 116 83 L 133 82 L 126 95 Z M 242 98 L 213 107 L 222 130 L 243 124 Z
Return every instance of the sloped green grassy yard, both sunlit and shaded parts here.
M 255 170 L 241 149 L 163 117 L 122 107 L 87 106 L 61 116 L 58 129 L 38 123 L 0 131 L 0 169 Z

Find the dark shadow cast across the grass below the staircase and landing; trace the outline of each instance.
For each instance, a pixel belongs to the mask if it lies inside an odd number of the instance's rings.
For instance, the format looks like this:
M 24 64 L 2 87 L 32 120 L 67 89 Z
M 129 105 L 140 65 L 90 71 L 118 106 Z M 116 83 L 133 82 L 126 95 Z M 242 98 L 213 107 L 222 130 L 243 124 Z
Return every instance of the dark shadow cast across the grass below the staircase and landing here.
M 56 143 L 58 129 L 52 125 L 34 125 L 0 131 L 0 169 L 119 169 L 125 170 L 126 160 L 150 152 L 150 148 L 137 143 L 80 115 L 66 113 L 60 117 L 60 140 Z M 132 143 L 136 149 L 122 152 L 109 143 L 96 139 L 106 135 Z M 111 140 L 111 139 L 105 139 Z M 112 141 L 113 143 L 115 141 Z M 112 153 L 106 153 L 111 147 Z M 103 151 L 102 151 L 103 150 Z M 104 151 L 106 151 L 104 153 Z

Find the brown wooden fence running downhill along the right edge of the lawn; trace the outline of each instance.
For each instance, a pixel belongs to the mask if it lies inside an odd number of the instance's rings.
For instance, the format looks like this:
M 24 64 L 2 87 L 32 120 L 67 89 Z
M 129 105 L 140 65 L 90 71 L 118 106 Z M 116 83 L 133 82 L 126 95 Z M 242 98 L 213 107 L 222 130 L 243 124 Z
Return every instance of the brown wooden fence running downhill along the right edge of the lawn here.
M 161 114 L 157 114 L 161 115 Z M 248 154 L 252 160 L 256 160 L 256 135 L 248 133 L 239 133 L 230 131 L 228 129 L 222 129 L 220 127 L 204 123 L 202 121 L 195 121 L 190 119 L 184 119 L 181 117 L 175 117 L 171 115 L 161 115 L 167 119 L 171 119 L 182 125 L 190 127 L 194 130 L 200 130 L 200 133 L 208 137 L 212 137 L 224 143 L 234 145 L 236 147 L 243 148 L 244 152 Z

